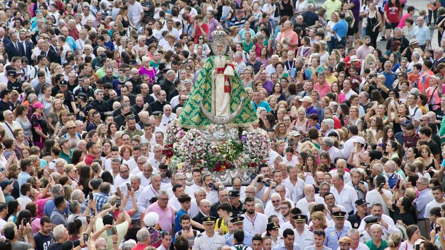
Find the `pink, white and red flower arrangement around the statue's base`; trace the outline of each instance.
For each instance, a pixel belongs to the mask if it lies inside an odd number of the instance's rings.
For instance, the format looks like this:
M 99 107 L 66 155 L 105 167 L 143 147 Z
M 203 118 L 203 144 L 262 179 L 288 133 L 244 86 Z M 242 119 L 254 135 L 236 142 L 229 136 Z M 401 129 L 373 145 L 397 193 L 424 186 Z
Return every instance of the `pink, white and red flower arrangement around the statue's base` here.
M 176 119 L 166 127 L 163 154 L 170 169 L 208 171 L 256 167 L 269 157 L 270 140 L 262 129 L 243 131 L 240 140 L 208 141 L 198 129 L 183 130 Z

